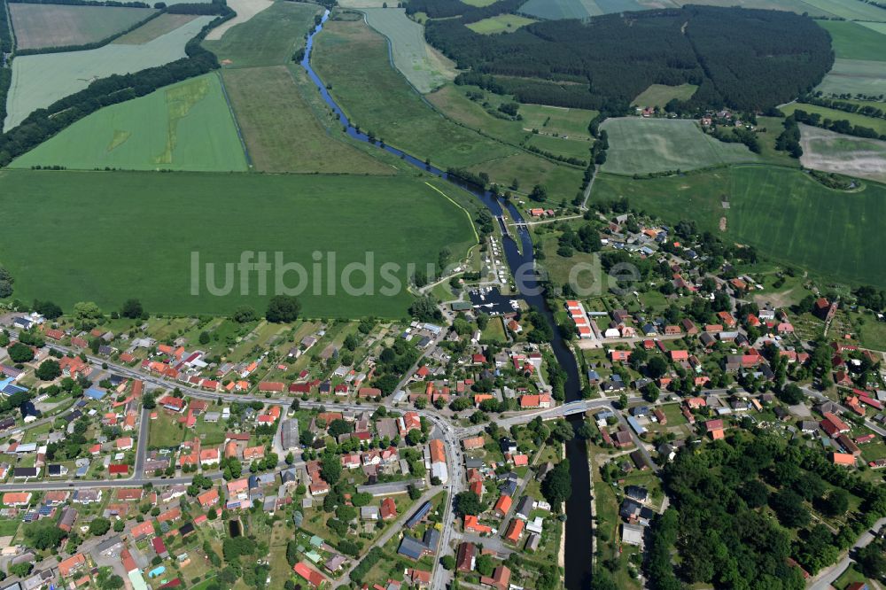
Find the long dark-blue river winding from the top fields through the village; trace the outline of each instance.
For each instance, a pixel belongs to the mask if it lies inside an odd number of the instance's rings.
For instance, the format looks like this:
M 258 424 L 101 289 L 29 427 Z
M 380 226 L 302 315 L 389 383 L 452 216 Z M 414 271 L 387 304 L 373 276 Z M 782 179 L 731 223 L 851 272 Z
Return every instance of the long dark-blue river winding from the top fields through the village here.
M 497 198 L 489 191 L 478 190 L 475 187 L 465 185 L 458 182 L 455 178 L 449 178 L 444 170 L 437 167 L 427 166 L 424 161 L 410 156 L 404 151 L 400 151 L 390 145 L 382 145 L 377 141 L 370 141 L 369 136 L 354 128 L 347 120 L 346 114 L 338 107 L 338 104 L 332 99 L 330 93 L 326 89 L 326 84 L 320 79 L 320 76 L 311 67 L 311 50 L 314 48 L 314 37 L 323 30 L 323 23 L 329 19 L 329 11 L 324 12 L 323 20 L 307 38 L 305 47 L 305 57 L 301 60 L 301 66 L 307 71 L 307 75 L 315 83 L 323 100 L 330 106 L 334 113 L 338 114 L 339 121 L 342 126 L 347 129 L 347 134 L 362 142 L 372 143 L 379 149 L 384 149 L 392 154 L 399 156 L 409 164 L 426 171 L 429 174 L 439 176 L 448 182 L 453 182 L 460 188 L 468 190 L 489 209 L 494 216 L 498 217 L 502 213 L 502 207 L 507 207 L 510 216 L 514 221 L 523 221 L 523 216 L 517 211 L 517 207 L 510 203 L 505 203 Z M 534 252 L 532 250 L 532 237 L 525 228 L 517 230 L 517 237 L 520 240 L 519 247 L 513 237 L 503 237 L 502 245 L 504 246 L 505 258 L 508 260 L 508 266 L 512 275 L 521 278 L 518 281 L 520 286 L 520 296 L 525 302 L 544 314 L 545 319 L 554 330 L 554 339 L 551 347 L 556 356 L 557 362 L 566 371 L 566 401 L 574 401 L 581 399 L 581 379 L 579 377 L 579 368 L 572 355 L 571 349 L 563 338 L 560 338 L 559 330 L 554 322 L 554 314 L 548 308 L 548 303 L 540 294 L 538 283 L 534 274 L 521 272 L 521 269 L 532 268 L 534 263 Z M 578 423 L 582 416 L 571 416 L 573 423 Z M 591 578 L 591 484 L 590 473 L 587 470 L 587 446 L 585 441 L 578 437 L 572 439 L 566 444 L 566 458 L 570 462 L 570 476 L 572 480 L 572 496 L 566 502 L 566 536 L 565 540 L 565 585 L 569 590 L 581 590 L 587 588 Z

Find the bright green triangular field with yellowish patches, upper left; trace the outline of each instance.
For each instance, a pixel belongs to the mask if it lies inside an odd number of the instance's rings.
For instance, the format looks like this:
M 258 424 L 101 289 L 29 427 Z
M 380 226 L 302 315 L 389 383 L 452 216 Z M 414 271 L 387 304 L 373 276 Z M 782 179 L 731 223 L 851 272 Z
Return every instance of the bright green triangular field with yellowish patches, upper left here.
M 217 74 L 107 106 L 78 120 L 12 167 L 245 171 L 246 159 Z

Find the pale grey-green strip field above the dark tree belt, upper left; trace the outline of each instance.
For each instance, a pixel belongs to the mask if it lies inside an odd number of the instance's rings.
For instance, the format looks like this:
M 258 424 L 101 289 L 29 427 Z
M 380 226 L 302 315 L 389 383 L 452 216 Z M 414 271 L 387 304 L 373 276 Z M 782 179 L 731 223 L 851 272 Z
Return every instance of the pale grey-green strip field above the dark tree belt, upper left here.
M 35 109 L 85 89 L 93 80 L 137 72 L 185 57 L 185 43 L 212 19 L 193 19 L 144 45 L 110 44 L 95 50 L 15 58 L 4 129 L 15 127 Z

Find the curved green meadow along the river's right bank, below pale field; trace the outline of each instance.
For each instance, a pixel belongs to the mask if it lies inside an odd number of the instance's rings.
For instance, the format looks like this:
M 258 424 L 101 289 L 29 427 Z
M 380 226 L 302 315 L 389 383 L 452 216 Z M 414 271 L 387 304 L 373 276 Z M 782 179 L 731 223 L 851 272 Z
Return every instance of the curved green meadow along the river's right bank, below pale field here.
M 385 38 L 362 21 L 328 21 L 312 61 L 354 125 L 439 167 L 466 167 L 514 153 L 434 113 L 391 67 Z

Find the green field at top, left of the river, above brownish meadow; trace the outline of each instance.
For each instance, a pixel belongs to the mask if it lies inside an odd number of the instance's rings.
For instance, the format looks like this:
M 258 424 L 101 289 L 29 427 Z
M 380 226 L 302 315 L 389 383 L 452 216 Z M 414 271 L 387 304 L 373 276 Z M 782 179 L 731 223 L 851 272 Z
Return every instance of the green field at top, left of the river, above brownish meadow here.
M 305 35 L 320 12 L 315 4 L 277 2 L 231 28 L 221 40 L 204 41 L 203 46 L 217 55 L 224 67 L 279 66 L 305 46 Z

